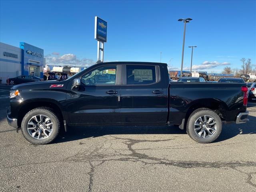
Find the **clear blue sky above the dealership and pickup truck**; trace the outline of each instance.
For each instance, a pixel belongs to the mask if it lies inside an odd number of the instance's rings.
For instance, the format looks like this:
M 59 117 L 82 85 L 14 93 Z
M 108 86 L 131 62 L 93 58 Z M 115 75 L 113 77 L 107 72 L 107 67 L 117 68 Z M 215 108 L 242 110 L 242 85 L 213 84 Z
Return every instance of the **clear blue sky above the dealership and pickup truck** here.
M 105 61 L 151 61 L 179 68 L 183 22 L 184 68 L 221 72 L 240 68 L 240 59 L 256 64 L 256 1 L 2 1 L 0 40 L 27 42 L 44 49 L 50 64 L 96 61 L 94 16 L 108 22 Z M 54 53 L 54 54 L 52 54 Z

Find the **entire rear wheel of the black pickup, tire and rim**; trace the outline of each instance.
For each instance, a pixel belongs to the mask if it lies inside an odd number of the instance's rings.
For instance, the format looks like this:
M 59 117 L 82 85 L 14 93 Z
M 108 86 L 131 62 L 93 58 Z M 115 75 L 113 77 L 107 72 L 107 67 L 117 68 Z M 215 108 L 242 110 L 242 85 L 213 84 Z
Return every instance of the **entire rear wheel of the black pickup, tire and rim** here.
M 213 142 L 218 138 L 221 130 L 220 117 L 208 108 L 199 108 L 188 118 L 187 133 L 198 143 Z

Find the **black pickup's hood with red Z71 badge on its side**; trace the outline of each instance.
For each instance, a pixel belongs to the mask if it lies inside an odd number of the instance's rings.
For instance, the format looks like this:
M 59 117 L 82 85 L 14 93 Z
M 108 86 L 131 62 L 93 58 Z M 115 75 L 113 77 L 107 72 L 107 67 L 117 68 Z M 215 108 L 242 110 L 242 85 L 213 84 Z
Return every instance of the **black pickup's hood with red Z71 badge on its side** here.
M 49 88 L 63 88 L 66 81 L 50 80 L 50 81 L 39 81 L 30 82 L 14 85 L 11 90 L 26 90 L 26 89 L 49 89 Z M 56 86 L 57 85 L 57 86 Z

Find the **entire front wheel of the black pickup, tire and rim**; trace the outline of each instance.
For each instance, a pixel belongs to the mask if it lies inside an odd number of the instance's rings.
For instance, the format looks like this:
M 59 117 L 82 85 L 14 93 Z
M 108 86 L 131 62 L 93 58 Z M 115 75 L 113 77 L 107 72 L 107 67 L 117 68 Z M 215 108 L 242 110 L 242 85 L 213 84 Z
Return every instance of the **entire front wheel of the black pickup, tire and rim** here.
M 50 108 L 38 107 L 24 116 L 21 130 L 30 143 L 48 144 L 58 136 L 60 121 Z

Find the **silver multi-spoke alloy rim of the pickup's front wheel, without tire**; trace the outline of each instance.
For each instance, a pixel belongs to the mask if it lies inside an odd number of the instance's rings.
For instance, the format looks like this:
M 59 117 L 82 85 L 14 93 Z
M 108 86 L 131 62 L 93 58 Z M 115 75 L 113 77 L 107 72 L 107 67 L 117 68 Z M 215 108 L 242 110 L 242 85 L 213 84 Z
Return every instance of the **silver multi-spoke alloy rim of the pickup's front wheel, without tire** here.
M 46 139 L 52 134 L 53 123 L 46 115 L 35 115 L 28 121 L 28 133 L 35 139 Z

